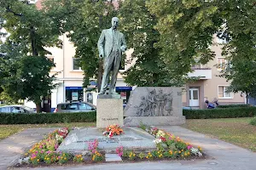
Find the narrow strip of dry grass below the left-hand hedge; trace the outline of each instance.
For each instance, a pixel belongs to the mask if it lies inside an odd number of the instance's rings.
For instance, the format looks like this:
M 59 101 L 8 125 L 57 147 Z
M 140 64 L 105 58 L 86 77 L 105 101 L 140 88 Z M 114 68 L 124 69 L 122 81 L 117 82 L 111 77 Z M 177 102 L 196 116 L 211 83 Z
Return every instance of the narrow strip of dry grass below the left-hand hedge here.
M 70 122 L 54 124 L 17 124 L 17 125 L 0 125 L 0 140 L 9 137 L 14 133 L 19 133 L 26 128 L 34 127 L 95 127 L 96 122 Z

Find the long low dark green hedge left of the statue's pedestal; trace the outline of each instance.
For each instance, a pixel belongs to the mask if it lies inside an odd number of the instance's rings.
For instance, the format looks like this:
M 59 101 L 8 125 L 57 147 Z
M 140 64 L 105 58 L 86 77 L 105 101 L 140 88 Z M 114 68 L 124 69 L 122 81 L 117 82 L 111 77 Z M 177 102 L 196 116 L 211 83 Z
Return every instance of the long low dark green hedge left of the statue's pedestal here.
M 96 122 L 96 111 L 77 113 L 0 113 L 0 124 L 44 124 L 58 122 Z

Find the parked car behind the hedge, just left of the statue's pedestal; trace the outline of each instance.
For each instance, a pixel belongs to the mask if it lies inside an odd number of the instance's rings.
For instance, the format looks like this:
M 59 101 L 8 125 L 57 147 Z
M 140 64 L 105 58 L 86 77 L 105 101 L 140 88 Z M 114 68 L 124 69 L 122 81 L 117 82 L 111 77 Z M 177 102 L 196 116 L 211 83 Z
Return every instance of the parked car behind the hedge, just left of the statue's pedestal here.
M 81 101 L 81 102 L 75 101 L 71 103 L 58 104 L 54 112 L 67 113 L 67 112 L 88 112 L 88 111 L 96 111 L 96 105 L 92 105 L 84 101 Z

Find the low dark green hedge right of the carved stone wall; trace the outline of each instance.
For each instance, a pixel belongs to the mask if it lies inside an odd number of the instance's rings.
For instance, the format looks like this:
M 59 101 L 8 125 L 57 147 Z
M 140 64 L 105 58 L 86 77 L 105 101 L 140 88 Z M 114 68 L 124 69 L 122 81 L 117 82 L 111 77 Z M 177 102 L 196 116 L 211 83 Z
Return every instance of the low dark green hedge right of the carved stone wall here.
M 256 116 L 256 107 L 232 107 L 204 110 L 183 110 L 187 119 L 235 118 Z

